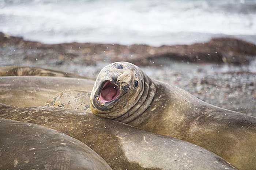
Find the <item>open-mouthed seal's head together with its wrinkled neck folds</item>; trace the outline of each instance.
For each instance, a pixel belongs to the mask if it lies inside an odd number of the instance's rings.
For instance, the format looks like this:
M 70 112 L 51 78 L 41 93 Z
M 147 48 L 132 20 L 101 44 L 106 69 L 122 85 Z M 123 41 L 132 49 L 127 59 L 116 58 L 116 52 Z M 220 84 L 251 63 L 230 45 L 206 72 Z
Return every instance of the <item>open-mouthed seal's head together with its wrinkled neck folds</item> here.
M 104 67 L 90 96 L 93 114 L 129 123 L 152 102 L 155 84 L 134 64 L 116 62 Z

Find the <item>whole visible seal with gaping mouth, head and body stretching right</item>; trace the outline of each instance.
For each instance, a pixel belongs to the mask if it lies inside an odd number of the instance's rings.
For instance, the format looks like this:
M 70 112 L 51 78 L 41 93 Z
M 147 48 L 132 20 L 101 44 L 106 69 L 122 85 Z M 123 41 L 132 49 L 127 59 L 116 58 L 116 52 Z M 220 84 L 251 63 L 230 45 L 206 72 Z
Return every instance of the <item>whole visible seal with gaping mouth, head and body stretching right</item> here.
M 255 117 L 203 102 L 131 63 L 112 63 L 99 72 L 90 106 L 97 116 L 194 143 L 238 169 L 255 170 Z

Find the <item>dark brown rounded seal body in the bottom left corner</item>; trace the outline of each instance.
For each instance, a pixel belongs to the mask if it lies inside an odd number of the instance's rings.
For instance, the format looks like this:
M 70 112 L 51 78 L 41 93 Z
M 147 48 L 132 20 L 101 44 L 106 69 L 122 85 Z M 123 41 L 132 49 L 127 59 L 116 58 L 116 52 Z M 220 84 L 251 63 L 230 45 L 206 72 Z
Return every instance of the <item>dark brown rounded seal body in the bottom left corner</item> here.
M 37 124 L 0 119 L 1 170 L 112 170 L 82 142 Z

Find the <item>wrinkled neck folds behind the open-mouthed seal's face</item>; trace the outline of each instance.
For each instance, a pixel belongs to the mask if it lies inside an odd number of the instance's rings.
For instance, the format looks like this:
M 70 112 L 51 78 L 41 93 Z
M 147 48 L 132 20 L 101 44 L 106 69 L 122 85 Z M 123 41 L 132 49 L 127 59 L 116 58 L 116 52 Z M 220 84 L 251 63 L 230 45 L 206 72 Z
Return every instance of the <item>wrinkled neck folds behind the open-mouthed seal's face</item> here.
M 127 112 L 122 114 L 122 116 L 115 118 L 119 122 L 129 123 L 138 118 L 140 115 L 143 114 L 144 111 L 148 107 L 150 107 L 151 102 L 155 96 L 157 91 L 155 84 L 152 80 L 143 73 L 143 84 L 139 95 L 136 97 L 136 100 L 131 104 L 132 106 L 129 108 Z

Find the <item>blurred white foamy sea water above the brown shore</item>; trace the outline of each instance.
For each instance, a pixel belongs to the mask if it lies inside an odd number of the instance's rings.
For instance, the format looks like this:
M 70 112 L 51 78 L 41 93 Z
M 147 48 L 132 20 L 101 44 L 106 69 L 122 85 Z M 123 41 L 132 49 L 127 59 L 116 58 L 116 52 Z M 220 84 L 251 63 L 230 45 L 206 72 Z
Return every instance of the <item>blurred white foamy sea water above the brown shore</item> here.
M 44 43 L 256 43 L 256 0 L 0 0 L 0 31 Z

